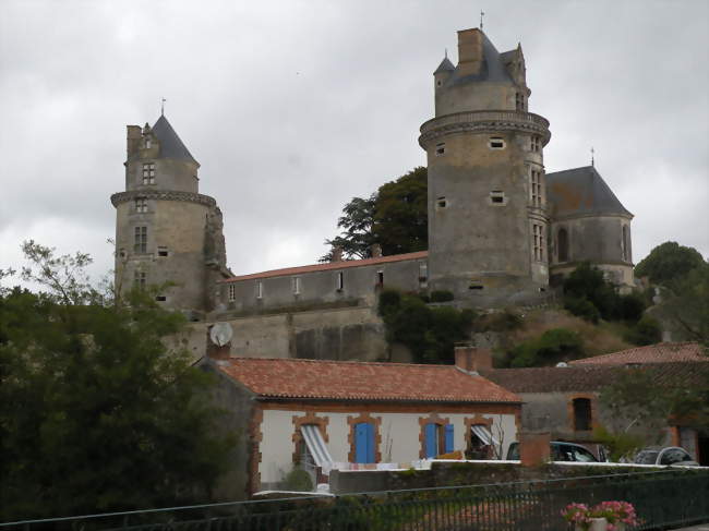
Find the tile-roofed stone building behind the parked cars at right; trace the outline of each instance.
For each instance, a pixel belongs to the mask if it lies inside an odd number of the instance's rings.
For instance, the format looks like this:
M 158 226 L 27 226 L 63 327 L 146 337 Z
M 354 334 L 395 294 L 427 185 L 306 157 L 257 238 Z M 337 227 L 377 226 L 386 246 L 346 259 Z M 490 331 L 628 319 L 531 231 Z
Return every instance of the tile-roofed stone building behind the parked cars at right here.
M 479 351 L 479 355 L 484 353 Z M 628 371 L 649 374 L 659 394 L 709 383 L 707 358 L 701 346 L 692 342 L 650 345 L 563 366 L 491 369 L 481 374 L 522 399 L 522 430 L 550 431 L 554 439 L 584 444 L 598 452 L 593 429 L 623 421 L 648 444 L 682 446 L 695 460 L 709 464 L 709 434 L 698 432 L 686 419 L 656 417 L 657 422 L 646 429 L 642 422 L 617 419 L 603 408 L 602 389 Z M 658 431 L 658 424 L 664 427 Z

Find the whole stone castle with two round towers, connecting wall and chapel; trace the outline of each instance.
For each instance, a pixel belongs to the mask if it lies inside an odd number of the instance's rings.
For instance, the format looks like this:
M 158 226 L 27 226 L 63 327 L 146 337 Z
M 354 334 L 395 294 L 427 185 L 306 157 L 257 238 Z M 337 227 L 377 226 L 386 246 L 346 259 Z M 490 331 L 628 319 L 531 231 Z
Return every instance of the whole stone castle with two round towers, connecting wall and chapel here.
M 230 323 L 233 355 L 329 359 L 392 358 L 375 307 L 384 286 L 447 290 L 458 306 L 524 306 L 588 261 L 629 289 L 633 215 L 593 166 L 544 172 L 549 121 L 528 110 L 521 47 L 500 53 L 482 31 L 460 31 L 458 64 L 446 57 L 433 82 L 435 117 L 419 137 L 428 252 L 382 256 L 375 246 L 366 260 L 334 253 L 233 276 L 221 212 L 199 193 L 200 165 L 160 116 L 128 125 L 125 191 L 111 196 L 117 286 L 175 282 L 157 300 L 204 328 Z

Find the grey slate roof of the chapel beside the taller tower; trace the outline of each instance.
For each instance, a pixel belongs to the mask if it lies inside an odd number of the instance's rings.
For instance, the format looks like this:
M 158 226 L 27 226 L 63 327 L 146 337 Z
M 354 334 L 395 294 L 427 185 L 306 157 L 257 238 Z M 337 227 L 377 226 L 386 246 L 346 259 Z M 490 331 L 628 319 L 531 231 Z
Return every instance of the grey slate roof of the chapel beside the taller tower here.
M 592 166 L 546 173 L 546 193 L 556 218 L 602 214 L 633 216 Z

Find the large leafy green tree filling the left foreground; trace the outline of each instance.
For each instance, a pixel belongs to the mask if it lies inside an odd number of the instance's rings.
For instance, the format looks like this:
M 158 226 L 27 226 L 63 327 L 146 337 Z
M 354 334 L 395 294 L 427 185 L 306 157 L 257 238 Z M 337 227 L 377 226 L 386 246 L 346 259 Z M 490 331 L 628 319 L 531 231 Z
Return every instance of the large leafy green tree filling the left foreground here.
M 29 250 L 49 291 L 0 294 L 2 519 L 207 500 L 235 438 L 215 435 L 211 377 L 166 348 L 183 317 L 151 292 L 103 305 L 83 265 Z

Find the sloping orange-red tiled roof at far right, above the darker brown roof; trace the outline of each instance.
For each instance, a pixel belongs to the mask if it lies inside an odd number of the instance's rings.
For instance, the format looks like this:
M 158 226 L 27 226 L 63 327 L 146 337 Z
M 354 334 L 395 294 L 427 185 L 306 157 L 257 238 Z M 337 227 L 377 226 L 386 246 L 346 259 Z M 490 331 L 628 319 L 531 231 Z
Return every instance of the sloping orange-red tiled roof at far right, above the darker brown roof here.
M 705 354 L 704 348 L 697 342 L 657 343 L 574 360 L 569 365 L 626 365 L 675 361 L 709 362 L 709 355 Z

